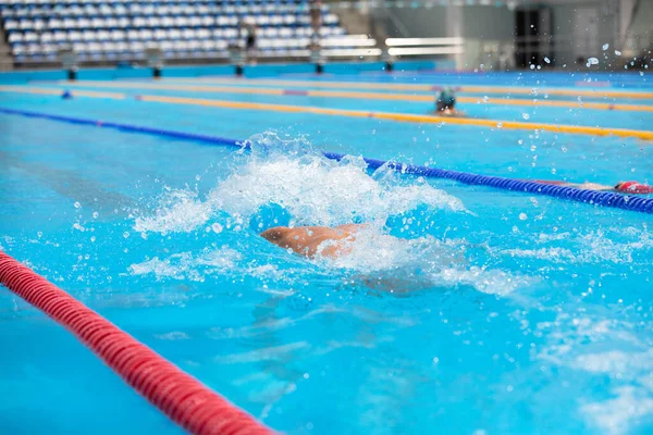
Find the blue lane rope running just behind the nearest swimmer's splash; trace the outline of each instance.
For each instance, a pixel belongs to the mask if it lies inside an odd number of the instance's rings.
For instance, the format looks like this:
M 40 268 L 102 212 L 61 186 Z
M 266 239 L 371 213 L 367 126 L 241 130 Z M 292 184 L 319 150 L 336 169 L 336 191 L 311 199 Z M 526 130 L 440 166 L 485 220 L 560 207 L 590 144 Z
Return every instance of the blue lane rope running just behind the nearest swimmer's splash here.
M 199 135 L 195 133 L 175 132 L 163 128 L 151 128 L 139 125 L 130 125 L 112 122 L 102 122 L 95 120 L 86 120 L 73 116 L 52 115 L 48 113 L 29 112 L 24 110 L 0 108 L 0 113 L 17 114 L 30 117 L 41 117 L 52 121 L 67 122 L 72 124 L 93 125 L 96 127 L 114 128 L 121 132 L 141 133 L 147 135 L 170 137 L 175 139 L 185 139 L 198 141 L 207 145 L 230 146 L 238 148 L 247 148 L 247 140 L 234 140 L 215 136 Z M 345 154 L 336 152 L 322 152 L 325 158 L 332 160 L 342 160 Z M 543 183 L 529 182 L 522 179 L 504 178 L 498 176 L 479 175 L 466 172 L 448 171 L 439 167 L 427 167 L 414 164 L 404 164 L 398 162 L 389 162 L 384 160 L 364 158 L 370 169 L 379 169 L 384 164 L 398 171 L 403 174 L 419 175 L 428 178 L 448 178 L 458 183 L 477 186 L 489 186 L 498 189 L 521 191 L 527 194 L 543 195 L 552 198 L 566 199 L 570 201 L 584 202 L 601 207 L 611 207 L 615 209 L 624 209 L 637 211 L 641 213 L 653 213 L 653 198 L 632 197 L 611 191 L 596 191 L 579 189 L 576 187 L 547 185 Z

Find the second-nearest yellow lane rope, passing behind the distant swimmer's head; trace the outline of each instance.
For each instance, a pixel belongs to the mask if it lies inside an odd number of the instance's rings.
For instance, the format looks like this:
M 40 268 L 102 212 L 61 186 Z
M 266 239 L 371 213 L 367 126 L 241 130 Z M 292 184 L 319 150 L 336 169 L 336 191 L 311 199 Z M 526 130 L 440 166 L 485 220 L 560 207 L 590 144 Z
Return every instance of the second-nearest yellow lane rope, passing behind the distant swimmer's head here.
M 195 85 L 167 85 L 151 83 L 114 83 L 114 82 L 74 82 L 66 83 L 69 87 L 99 87 L 99 88 L 122 88 L 122 89 L 161 89 L 161 90 L 181 90 L 189 92 L 225 92 L 225 94 L 250 94 L 250 95 L 273 95 L 273 96 L 307 96 L 307 97 L 326 97 L 326 98 L 350 98 L 368 100 L 392 100 L 392 101 L 411 101 L 411 102 L 433 102 L 433 96 L 410 95 L 410 94 L 384 94 L 384 92 L 361 92 L 361 91 L 333 91 L 333 90 L 305 90 L 300 94 L 288 91 L 286 89 L 272 88 L 247 88 L 238 86 L 195 86 Z M 568 109 L 593 109 L 593 110 L 618 110 L 629 112 L 653 112 L 653 105 L 644 104 L 611 104 L 603 102 L 578 102 L 578 101 L 552 101 L 552 100 L 526 100 L 526 99 L 504 99 L 504 98 L 477 98 L 458 97 L 457 100 L 463 103 L 483 103 L 483 104 L 504 104 L 504 105 L 528 105 L 528 107 L 555 107 Z

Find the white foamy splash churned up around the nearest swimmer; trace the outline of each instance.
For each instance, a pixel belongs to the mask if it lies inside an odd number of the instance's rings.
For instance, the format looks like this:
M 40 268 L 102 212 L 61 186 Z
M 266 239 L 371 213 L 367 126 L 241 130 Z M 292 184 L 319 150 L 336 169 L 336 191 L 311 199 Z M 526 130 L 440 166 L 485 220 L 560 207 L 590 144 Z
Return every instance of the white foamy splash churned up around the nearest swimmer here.
M 368 223 L 357 233 L 346 254 L 335 260 L 317 260 L 322 273 L 334 276 L 354 273 L 364 283 L 390 290 L 463 284 L 503 295 L 526 283 L 501 271 L 469 268 L 464 257 L 464 240 L 441 241 L 431 236 L 407 240 L 387 234 L 384 225 L 391 216 L 410 215 L 419 210 L 419 219 L 406 217 L 402 225 L 428 227 L 436 221 L 436 213 L 467 212 L 458 198 L 432 187 L 423 178 L 401 176 L 387 165 L 370 174 L 360 157 L 330 160 L 312 150 L 304 138 L 282 140 L 273 133 L 266 133 L 252 137 L 250 142 L 251 152 L 236 153 L 232 172 L 206 198 L 190 190 L 167 191 L 159 199 L 156 212 L 137 217 L 134 228 L 162 234 L 211 228 L 223 233 L 215 228 L 244 227 L 261 209 L 276 204 L 291 216 L 291 225 Z M 207 260 L 212 254 L 219 257 L 217 263 Z M 234 269 L 235 261 L 229 256 L 237 254 L 236 251 L 182 252 L 164 260 L 153 258 L 133 264 L 131 272 L 151 273 L 157 278 L 200 281 L 207 274 L 224 270 L 225 264 Z M 306 263 L 299 269 L 305 270 Z M 299 275 L 260 262 L 239 270 L 263 279 L 288 283 Z

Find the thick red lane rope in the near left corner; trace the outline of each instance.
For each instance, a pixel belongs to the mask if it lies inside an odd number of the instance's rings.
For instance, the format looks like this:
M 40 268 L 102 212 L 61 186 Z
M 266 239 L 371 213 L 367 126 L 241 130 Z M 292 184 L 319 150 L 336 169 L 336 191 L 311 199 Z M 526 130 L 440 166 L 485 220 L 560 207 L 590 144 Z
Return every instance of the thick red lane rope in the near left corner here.
M 270 435 L 245 411 L 0 251 L 0 283 L 67 328 L 132 388 L 193 434 Z

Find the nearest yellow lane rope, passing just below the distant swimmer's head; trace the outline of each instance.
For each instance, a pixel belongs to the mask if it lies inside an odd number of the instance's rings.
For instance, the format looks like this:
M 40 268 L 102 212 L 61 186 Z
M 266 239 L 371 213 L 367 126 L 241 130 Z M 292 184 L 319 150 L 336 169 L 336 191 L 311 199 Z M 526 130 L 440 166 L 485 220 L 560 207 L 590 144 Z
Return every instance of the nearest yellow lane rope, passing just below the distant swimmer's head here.
M 28 92 L 28 94 L 48 94 L 48 95 L 60 95 L 58 89 L 40 89 L 32 87 L 0 87 L 0 91 L 15 91 L 15 92 Z M 93 95 L 91 95 L 93 94 Z M 101 94 L 100 97 L 98 94 Z M 76 92 L 78 96 L 91 97 L 91 98 L 104 98 L 104 92 Z M 123 94 L 110 94 L 115 98 L 125 98 Z M 110 97 L 111 98 L 111 97 Z M 227 109 L 248 109 L 248 110 L 263 110 L 271 112 L 289 112 L 289 113 L 313 113 L 324 115 L 336 115 L 336 116 L 349 116 L 349 117 L 369 117 L 377 120 L 392 120 L 398 122 L 410 122 L 410 123 L 429 123 L 429 124 L 451 124 L 451 125 L 472 125 L 483 126 L 490 128 L 505 128 L 505 129 L 526 129 L 526 130 L 545 130 L 555 133 L 569 133 L 579 135 L 591 135 L 591 136 L 619 136 L 619 137 L 633 137 L 644 140 L 653 140 L 653 132 L 648 130 L 636 130 L 626 128 L 602 128 L 602 127 L 587 127 L 579 125 L 553 125 L 542 123 L 525 123 L 517 121 L 495 121 L 495 120 L 477 120 L 467 117 L 443 117 L 421 114 L 409 114 L 409 113 L 389 113 L 389 112 L 369 112 L 361 110 L 345 110 L 345 109 L 324 109 L 316 108 L 310 105 L 288 105 L 288 104 L 271 104 L 271 103 L 256 103 L 256 102 L 243 102 L 243 101 L 224 101 L 224 100 L 207 100 L 200 98 L 181 98 L 181 97 L 163 97 L 163 96 L 138 96 L 143 101 L 150 102 L 163 102 L 172 104 L 192 104 L 202 107 L 215 107 L 215 108 L 227 108 Z

